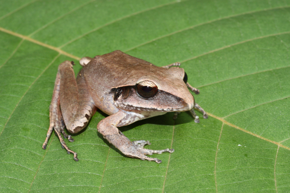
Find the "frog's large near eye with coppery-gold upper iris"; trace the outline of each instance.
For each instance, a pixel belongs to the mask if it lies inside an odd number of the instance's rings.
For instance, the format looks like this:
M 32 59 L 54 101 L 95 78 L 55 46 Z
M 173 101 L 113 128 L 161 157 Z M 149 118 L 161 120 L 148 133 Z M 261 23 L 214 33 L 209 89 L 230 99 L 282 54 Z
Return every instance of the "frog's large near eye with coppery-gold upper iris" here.
M 137 84 L 137 93 L 144 98 L 151 98 L 156 95 L 158 88 L 150 80 L 145 80 Z

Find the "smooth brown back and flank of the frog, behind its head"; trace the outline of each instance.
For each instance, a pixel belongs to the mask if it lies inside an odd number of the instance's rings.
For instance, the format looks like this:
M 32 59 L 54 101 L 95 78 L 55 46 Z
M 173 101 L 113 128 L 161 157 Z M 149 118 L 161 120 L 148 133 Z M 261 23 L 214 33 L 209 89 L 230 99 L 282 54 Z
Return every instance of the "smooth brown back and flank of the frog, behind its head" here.
M 135 85 L 140 76 L 158 74 L 165 70 L 116 50 L 95 56 L 80 73 L 84 74 L 95 106 L 111 115 L 118 111 L 113 101 L 113 88 Z

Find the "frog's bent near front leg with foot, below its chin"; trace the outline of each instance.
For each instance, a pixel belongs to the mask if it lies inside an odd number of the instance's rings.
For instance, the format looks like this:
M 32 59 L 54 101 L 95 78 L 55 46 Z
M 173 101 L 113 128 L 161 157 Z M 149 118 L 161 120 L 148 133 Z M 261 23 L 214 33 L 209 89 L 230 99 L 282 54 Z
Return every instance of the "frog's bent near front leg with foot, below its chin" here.
M 139 158 L 141 160 L 156 161 L 161 163 L 162 161 L 157 158 L 151 158 L 146 155 L 152 155 L 153 153 L 161 154 L 162 152 L 172 153 L 174 149 L 164 150 L 151 150 L 145 149 L 144 145 L 151 143 L 145 140 L 130 141 L 117 127 L 131 124 L 142 117 L 136 116 L 133 113 L 127 114 L 119 110 L 117 113 L 110 115 L 101 120 L 97 126 L 99 133 L 101 133 L 105 139 L 118 148 L 124 155 L 133 158 Z

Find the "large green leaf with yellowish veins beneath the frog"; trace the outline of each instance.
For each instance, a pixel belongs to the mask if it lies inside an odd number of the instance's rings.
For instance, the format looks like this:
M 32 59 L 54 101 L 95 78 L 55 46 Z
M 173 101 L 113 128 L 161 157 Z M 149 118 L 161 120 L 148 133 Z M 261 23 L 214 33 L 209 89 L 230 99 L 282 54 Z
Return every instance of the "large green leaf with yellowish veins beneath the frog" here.
M 290 192 L 289 0 L 0 3 L 0 192 Z M 152 155 L 160 164 L 111 146 L 101 111 L 67 141 L 78 162 L 55 135 L 43 150 L 58 65 L 116 49 L 181 62 L 209 118 L 167 113 L 120 128 L 174 148 Z

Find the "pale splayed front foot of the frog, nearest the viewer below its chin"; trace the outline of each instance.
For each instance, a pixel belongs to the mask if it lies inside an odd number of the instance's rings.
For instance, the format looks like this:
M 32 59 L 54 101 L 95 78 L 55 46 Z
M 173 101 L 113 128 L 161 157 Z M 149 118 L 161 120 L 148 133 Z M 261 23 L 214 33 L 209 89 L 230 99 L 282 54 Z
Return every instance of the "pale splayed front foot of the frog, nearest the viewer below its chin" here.
M 162 161 L 160 159 L 148 157 L 146 155 L 152 155 L 153 153 L 162 154 L 163 152 L 169 152 L 169 153 L 174 152 L 174 149 L 169 149 L 169 148 L 163 149 L 163 150 L 145 149 L 144 145 L 147 145 L 147 144 L 151 145 L 149 141 L 145 141 L 145 140 L 132 141 L 132 143 L 134 145 L 132 146 L 130 153 L 129 154 L 125 153 L 125 155 L 129 157 L 139 158 L 141 160 L 156 161 L 156 163 L 161 163 Z

